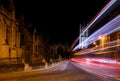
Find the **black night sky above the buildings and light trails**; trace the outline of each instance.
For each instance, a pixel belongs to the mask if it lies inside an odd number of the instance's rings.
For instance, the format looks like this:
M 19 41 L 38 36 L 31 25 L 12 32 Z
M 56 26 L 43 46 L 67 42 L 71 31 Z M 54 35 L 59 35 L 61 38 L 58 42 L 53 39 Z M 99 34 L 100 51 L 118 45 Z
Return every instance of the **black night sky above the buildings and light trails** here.
M 72 42 L 79 35 L 79 24 L 88 23 L 109 0 L 15 0 L 16 15 L 24 14 L 52 43 Z

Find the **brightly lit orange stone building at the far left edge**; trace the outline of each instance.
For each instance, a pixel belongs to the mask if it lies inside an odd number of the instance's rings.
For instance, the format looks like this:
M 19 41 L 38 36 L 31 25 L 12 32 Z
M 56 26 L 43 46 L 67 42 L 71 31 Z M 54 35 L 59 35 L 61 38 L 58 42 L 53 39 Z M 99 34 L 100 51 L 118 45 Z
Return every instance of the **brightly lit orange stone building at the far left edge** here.
M 8 7 L 0 5 L 0 65 L 20 65 L 23 64 L 21 36 L 17 27 L 13 0 L 9 0 L 8 3 Z

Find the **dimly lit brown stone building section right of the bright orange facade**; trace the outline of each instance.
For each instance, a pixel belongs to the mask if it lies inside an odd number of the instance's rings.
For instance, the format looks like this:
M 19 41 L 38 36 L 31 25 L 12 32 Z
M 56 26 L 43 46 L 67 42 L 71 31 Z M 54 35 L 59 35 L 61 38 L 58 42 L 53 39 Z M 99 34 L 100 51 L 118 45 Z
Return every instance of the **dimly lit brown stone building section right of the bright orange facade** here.
M 43 64 L 44 44 L 42 36 L 31 23 L 25 25 L 24 16 L 18 20 L 18 28 L 21 33 L 21 48 L 23 51 L 23 62 L 25 69 L 36 68 Z

